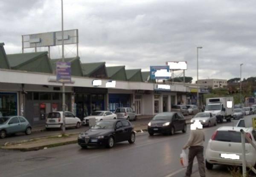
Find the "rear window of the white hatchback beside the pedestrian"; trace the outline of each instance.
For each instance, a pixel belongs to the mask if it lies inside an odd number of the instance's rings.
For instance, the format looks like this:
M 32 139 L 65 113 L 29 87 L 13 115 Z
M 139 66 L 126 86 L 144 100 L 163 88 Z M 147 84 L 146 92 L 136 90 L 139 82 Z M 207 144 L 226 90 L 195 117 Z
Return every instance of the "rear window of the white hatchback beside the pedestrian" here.
M 232 130 L 218 131 L 214 140 L 232 142 L 232 143 L 241 143 L 241 132 L 236 132 Z M 247 140 L 245 140 L 245 142 L 248 143 Z

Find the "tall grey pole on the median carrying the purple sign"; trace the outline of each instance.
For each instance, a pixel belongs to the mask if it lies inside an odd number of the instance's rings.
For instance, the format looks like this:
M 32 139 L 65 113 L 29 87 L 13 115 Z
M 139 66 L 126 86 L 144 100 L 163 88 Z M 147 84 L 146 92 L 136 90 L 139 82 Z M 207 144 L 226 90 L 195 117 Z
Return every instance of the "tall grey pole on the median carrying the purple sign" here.
M 63 0 L 61 0 L 61 37 L 62 37 L 62 62 L 65 62 L 64 60 L 64 34 L 63 34 Z M 66 118 L 65 118 L 65 83 L 62 83 L 62 111 L 63 111 L 63 124 L 62 124 L 62 135 L 65 135 L 65 125 L 66 125 Z

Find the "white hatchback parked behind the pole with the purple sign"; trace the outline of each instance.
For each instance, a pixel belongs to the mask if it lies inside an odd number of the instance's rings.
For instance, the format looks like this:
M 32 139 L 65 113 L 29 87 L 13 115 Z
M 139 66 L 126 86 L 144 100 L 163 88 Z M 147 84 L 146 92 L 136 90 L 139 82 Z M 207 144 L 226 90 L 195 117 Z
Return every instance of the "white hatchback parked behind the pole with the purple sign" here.
M 45 124 L 45 128 L 48 130 L 50 128 L 61 128 L 63 126 L 63 112 L 49 112 L 47 116 L 47 121 Z M 80 118 L 77 118 L 73 115 L 72 112 L 65 112 L 65 127 L 76 127 L 79 128 L 81 126 Z

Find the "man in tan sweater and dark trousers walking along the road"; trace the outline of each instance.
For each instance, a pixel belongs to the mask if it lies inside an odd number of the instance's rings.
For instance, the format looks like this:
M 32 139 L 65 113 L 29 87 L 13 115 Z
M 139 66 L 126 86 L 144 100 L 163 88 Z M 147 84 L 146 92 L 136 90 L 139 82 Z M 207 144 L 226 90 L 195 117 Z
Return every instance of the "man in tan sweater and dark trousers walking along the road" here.
M 205 167 L 204 167 L 204 141 L 205 136 L 202 129 L 198 127 L 191 129 L 189 140 L 183 149 L 189 147 L 189 165 L 186 170 L 186 177 L 190 177 L 192 174 L 193 161 L 196 156 L 198 160 L 198 171 L 201 177 L 205 177 Z

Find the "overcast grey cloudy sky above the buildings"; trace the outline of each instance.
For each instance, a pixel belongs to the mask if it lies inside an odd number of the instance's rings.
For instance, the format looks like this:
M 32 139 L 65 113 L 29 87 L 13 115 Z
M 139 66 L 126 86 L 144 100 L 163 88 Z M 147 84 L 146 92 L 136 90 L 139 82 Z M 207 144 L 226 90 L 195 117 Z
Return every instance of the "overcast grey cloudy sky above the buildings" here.
M 64 30 L 79 30 L 82 62 L 150 65 L 187 61 L 186 76 L 199 79 L 255 76 L 255 0 L 63 0 Z M 0 42 L 21 53 L 21 35 L 61 30 L 61 0 L 5 0 L 0 3 Z M 45 51 L 40 48 L 38 51 Z M 34 49 L 25 49 L 32 52 Z M 65 46 L 65 57 L 75 56 Z M 61 57 L 61 47 L 51 58 Z M 176 72 L 178 75 L 179 72 Z

